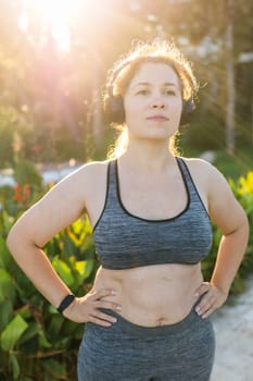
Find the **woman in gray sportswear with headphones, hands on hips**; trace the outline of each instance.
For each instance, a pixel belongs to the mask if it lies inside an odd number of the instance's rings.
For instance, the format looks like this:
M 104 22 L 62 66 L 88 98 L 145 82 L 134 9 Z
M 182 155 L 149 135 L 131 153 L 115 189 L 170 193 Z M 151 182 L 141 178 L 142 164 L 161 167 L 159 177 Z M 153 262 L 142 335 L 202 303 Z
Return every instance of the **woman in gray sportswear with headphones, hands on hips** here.
M 116 160 L 67 176 L 13 226 L 8 245 L 45 297 L 86 331 L 78 380 L 207 381 L 214 359 L 211 314 L 226 300 L 248 242 L 248 221 L 223 175 L 173 151 L 198 90 L 189 62 L 168 44 L 139 45 L 113 67 L 105 91 L 122 124 Z M 169 144 L 169 149 L 168 149 Z M 87 212 L 101 267 L 75 297 L 42 247 Z M 216 266 L 201 260 L 222 232 Z

